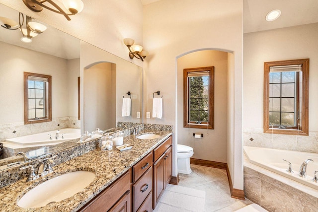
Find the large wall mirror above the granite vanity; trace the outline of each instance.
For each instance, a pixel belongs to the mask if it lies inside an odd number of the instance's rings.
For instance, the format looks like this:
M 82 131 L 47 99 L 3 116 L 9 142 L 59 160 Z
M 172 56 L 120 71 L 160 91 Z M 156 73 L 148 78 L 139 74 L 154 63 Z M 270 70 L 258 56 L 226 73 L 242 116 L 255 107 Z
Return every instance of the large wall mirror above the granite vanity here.
M 0 16 L 18 22 L 19 12 L 0 4 Z M 10 168 L 8 163 L 21 159 L 15 156 L 18 151 L 27 152 L 33 159 L 78 145 L 75 137 L 79 138 L 84 131 L 114 129 L 118 122 L 142 123 L 142 119 L 136 117 L 137 111 L 143 114 L 141 67 L 42 24 L 47 27 L 46 31 L 33 37 L 31 43 L 21 42 L 19 30 L 0 27 L 0 143 L 5 146 L 7 140 L 43 132 L 46 140 L 31 140 L 24 144 L 13 141 L 9 148 L 3 148 L 0 170 Z M 99 82 L 91 79 L 90 68 L 98 64 L 113 67 L 111 78 Z M 52 76 L 52 121 L 24 124 L 23 72 Z M 86 79 L 85 74 L 88 74 Z M 113 83 L 111 92 L 104 90 L 107 80 Z M 123 97 L 128 97 L 128 91 L 132 94 L 131 115 L 122 116 Z M 107 92 L 111 95 L 106 101 L 109 108 L 85 106 L 88 102 L 99 102 Z M 95 99 L 87 98 L 90 94 L 96 94 Z M 103 121 L 109 120 L 112 121 L 104 125 Z M 75 130 L 70 131 L 72 136 L 69 138 L 66 128 Z M 63 136 L 65 140 L 55 140 L 58 130 L 59 138 Z

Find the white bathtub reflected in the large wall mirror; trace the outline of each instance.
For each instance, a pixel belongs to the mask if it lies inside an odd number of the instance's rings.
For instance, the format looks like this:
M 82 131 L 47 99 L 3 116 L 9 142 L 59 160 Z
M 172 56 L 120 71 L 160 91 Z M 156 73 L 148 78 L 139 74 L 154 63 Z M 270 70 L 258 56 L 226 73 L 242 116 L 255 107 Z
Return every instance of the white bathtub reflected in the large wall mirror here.
M 55 134 L 57 130 L 33 134 L 29 136 L 21 136 L 12 139 L 6 139 L 7 143 L 22 145 L 22 146 L 42 146 L 42 145 L 54 145 L 57 143 L 61 143 L 67 140 L 79 139 L 80 138 L 80 129 L 74 128 L 64 128 L 60 129 L 59 138 L 55 139 Z M 52 140 L 50 140 L 51 135 Z M 62 139 L 63 134 L 63 139 Z

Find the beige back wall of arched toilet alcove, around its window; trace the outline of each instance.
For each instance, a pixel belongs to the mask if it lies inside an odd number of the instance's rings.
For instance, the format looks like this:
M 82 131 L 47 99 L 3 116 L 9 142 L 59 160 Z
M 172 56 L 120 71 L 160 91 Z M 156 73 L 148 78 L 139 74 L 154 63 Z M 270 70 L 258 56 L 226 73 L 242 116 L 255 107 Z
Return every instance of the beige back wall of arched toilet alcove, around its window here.
M 206 50 L 177 60 L 178 143 L 193 147 L 193 158 L 227 162 L 228 53 Z M 214 130 L 183 127 L 183 69 L 214 66 Z M 194 139 L 193 133 L 203 134 Z

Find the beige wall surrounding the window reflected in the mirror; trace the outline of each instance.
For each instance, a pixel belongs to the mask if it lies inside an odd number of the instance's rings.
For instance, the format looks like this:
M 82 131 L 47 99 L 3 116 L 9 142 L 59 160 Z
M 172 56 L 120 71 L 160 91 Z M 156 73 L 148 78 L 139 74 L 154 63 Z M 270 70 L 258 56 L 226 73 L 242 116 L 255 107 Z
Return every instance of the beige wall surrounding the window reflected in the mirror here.
M 69 98 L 69 90 L 77 85 L 69 83 L 69 68 L 79 75 L 79 59 L 73 63 L 51 55 L 35 52 L 0 42 L 0 124 L 24 123 L 23 72 L 52 76 L 52 118 L 68 117 L 69 111 L 77 110 Z M 77 73 L 76 73 L 77 72 Z M 77 80 L 77 78 L 76 78 Z M 72 86 L 75 87 L 72 87 Z M 73 115 L 71 115 L 73 116 Z

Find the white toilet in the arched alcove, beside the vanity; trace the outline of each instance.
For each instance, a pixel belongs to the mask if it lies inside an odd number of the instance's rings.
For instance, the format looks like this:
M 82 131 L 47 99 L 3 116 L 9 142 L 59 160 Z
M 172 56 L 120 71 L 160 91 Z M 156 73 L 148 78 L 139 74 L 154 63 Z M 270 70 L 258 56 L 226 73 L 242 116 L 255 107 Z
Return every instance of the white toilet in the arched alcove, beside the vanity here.
M 190 174 L 192 172 L 190 167 L 190 157 L 193 155 L 193 148 L 190 146 L 178 144 L 178 173 Z

